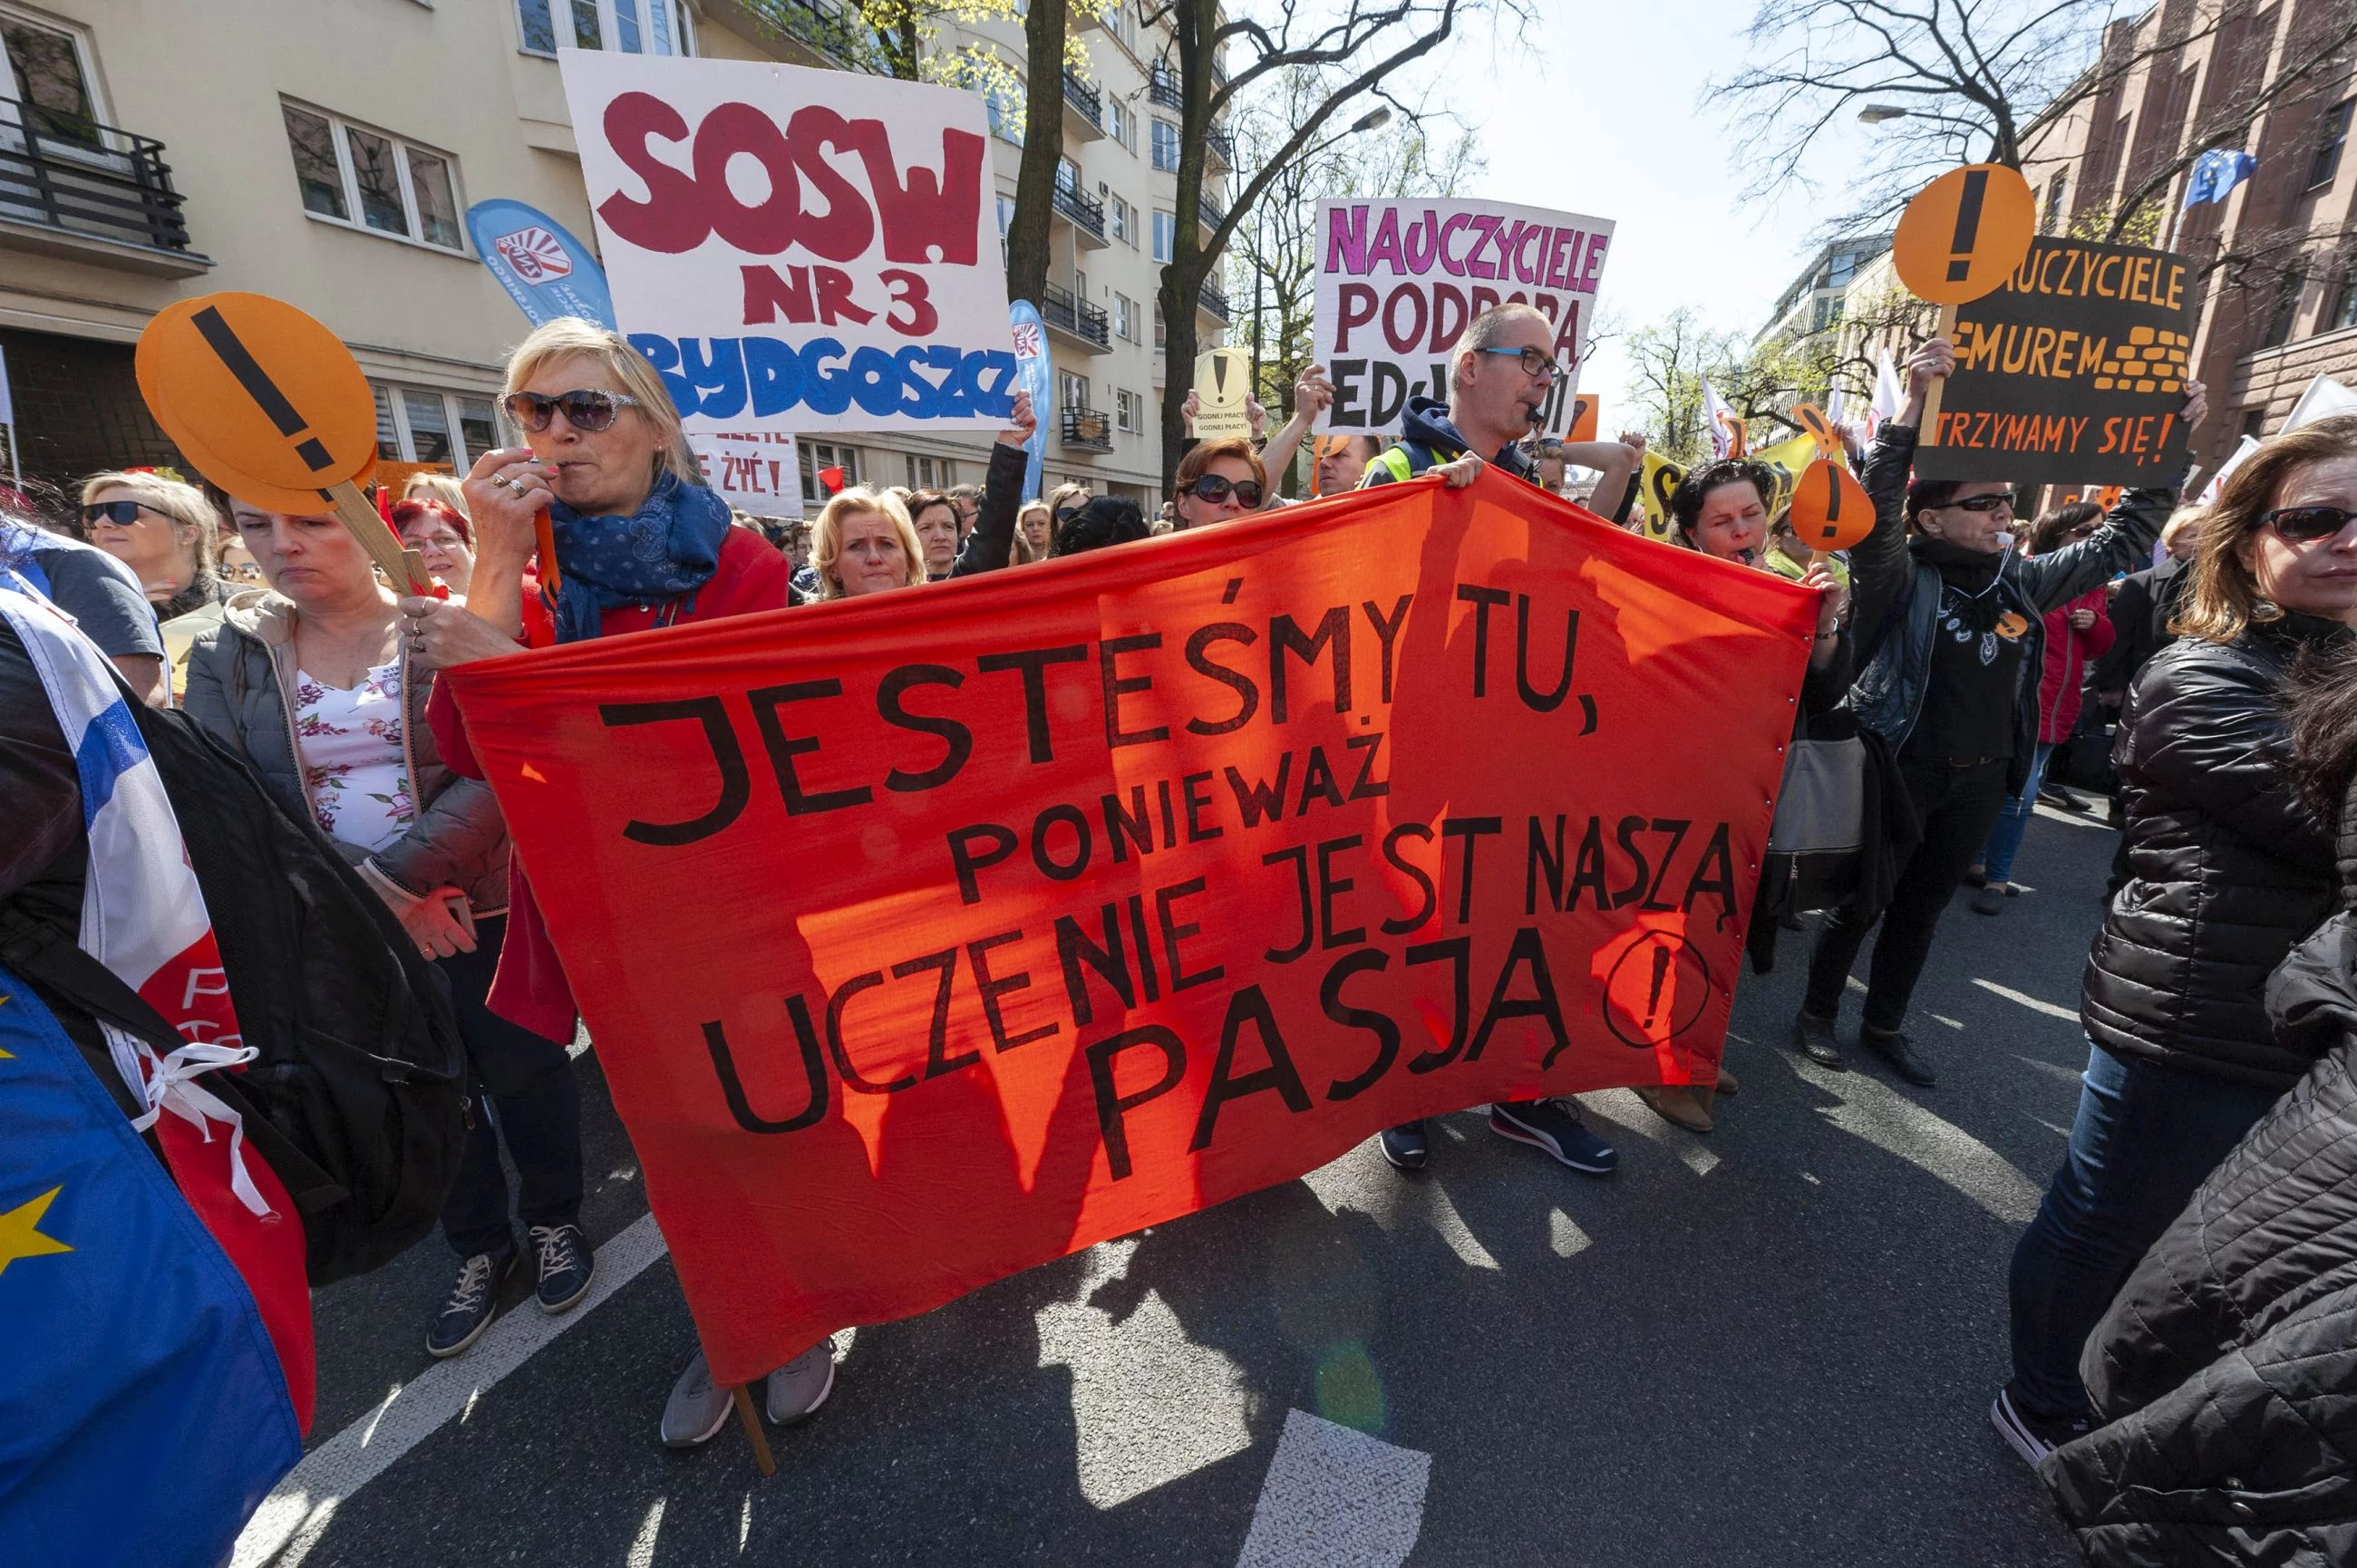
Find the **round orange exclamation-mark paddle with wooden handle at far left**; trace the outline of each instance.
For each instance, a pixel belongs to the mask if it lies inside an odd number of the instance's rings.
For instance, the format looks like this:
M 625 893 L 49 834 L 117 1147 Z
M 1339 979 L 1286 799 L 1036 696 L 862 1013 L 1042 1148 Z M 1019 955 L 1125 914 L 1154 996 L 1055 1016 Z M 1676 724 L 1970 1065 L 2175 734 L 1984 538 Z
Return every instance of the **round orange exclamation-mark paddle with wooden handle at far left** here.
M 148 413 L 205 479 L 271 512 L 328 502 L 396 587 L 434 592 L 358 490 L 377 462 L 377 398 L 325 325 L 269 295 L 200 295 L 148 321 L 134 370 Z

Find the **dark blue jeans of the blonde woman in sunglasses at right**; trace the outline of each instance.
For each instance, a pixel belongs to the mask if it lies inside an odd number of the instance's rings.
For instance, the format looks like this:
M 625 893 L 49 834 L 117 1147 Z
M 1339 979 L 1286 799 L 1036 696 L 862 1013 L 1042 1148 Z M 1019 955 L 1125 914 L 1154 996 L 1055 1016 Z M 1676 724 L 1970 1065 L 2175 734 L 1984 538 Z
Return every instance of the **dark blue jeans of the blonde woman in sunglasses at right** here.
M 2013 1247 L 2013 1398 L 2086 1410 L 2079 1353 L 2128 1273 L 2277 1089 L 2088 1047 L 2069 1148 Z

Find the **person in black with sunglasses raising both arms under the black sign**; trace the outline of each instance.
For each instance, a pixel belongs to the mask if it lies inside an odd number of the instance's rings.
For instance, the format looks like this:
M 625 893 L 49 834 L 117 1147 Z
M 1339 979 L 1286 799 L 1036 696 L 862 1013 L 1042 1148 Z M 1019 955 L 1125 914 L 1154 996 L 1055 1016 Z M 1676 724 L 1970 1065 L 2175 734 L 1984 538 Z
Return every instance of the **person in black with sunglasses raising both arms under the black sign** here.
M 1850 552 L 1862 667 L 1850 710 L 1862 731 L 1897 757 L 1923 837 L 1900 865 L 1879 917 L 1867 1016 L 1857 1042 L 1914 1085 L 1937 1082 L 1930 1061 L 1902 1033 L 1930 938 L 1966 868 L 1996 825 L 2006 795 L 2029 778 L 2036 755 L 2039 674 L 2046 665 L 2046 611 L 2143 566 L 2176 490 L 2131 490 L 2102 528 L 2053 554 L 2011 549 L 2013 486 L 1982 479 L 1916 479 L 1916 422 L 1933 380 L 1956 368 L 1956 349 L 1935 337 L 1907 361 L 1907 408 L 1883 424 L 1867 457 L 1874 533 Z M 2209 403 L 2185 387 L 2185 429 Z M 1850 964 L 1876 920 L 1834 910 L 1817 931 L 1794 1045 L 1810 1061 L 1841 1068 L 1834 1023 Z

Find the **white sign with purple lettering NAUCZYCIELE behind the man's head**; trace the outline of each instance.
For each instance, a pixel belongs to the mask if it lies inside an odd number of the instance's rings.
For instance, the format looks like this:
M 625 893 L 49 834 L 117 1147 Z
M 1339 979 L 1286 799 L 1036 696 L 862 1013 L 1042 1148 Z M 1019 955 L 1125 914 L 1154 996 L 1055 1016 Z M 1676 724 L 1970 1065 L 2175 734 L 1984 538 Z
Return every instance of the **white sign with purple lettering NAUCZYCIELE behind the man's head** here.
M 1450 349 L 1494 304 L 1556 323 L 1544 431 L 1563 436 L 1612 224 L 1497 200 L 1318 203 L 1313 358 L 1334 377 L 1320 429 L 1395 431 L 1412 394 L 1450 396 Z

